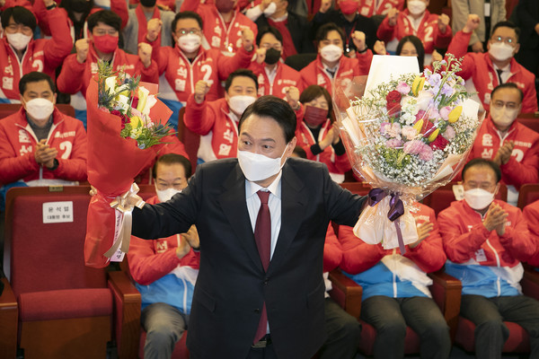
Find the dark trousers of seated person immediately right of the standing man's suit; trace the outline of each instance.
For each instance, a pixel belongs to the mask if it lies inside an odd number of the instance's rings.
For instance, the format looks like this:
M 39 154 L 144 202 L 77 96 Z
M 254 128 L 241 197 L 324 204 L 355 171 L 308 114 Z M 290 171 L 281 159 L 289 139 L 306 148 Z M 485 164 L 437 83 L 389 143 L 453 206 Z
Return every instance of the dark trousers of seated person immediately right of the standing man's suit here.
M 319 358 L 354 358 L 358 352 L 361 325 L 331 298 L 325 299 L 324 306 L 328 338 L 319 351 Z

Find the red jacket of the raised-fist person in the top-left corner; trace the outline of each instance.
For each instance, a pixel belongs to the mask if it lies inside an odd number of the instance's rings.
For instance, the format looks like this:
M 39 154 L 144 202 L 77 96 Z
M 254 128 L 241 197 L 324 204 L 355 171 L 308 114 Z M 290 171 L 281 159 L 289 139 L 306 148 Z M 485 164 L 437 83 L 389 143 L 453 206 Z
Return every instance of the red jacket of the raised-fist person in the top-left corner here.
M 19 101 L 19 80 L 23 74 L 39 71 L 54 80 L 57 67 L 71 52 L 73 42 L 69 37 L 66 13 L 55 8 L 47 12 L 47 17 L 53 24 L 50 27 L 52 39 L 31 39 L 21 61 L 7 39 L 0 39 L 0 99 Z

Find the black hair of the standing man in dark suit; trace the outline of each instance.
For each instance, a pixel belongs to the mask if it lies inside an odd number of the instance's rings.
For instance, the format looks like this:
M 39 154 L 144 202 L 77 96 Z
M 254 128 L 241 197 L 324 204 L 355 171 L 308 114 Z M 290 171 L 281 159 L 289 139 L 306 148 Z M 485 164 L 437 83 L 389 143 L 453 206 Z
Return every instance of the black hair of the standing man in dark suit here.
M 238 125 L 240 131 L 245 119 L 251 115 L 274 119 L 278 126 L 282 128 L 287 143 L 294 138 L 296 133 L 296 112 L 287 101 L 272 95 L 261 96 L 243 111 Z

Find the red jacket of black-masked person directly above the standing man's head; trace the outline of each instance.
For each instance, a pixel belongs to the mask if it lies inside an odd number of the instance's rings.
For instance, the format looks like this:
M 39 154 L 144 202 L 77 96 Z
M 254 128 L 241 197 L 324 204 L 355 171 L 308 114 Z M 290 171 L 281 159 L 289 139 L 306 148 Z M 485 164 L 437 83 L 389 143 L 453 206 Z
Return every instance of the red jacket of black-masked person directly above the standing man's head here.
M 249 69 L 258 77 L 259 96 L 274 95 L 284 99 L 287 95 L 287 87 L 289 86 L 297 87 L 300 93 L 304 90 L 301 74 L 280 61 L 277 63 L 277 73 L 275 74 L 273 83 L 270 82 L 270 78 L 266 74 L 265 64 L 252 61 Z

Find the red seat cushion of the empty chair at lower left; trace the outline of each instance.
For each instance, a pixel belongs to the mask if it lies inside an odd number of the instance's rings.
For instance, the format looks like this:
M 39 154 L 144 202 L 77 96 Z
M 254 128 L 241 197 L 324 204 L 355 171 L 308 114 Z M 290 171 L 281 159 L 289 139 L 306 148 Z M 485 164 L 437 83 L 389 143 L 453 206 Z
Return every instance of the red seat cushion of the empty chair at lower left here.
M 112 314 L 112 294 L 108 288 L 65 289 L 21 293 L 21 321 L 64 320 Z

